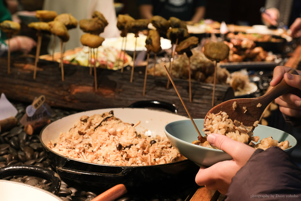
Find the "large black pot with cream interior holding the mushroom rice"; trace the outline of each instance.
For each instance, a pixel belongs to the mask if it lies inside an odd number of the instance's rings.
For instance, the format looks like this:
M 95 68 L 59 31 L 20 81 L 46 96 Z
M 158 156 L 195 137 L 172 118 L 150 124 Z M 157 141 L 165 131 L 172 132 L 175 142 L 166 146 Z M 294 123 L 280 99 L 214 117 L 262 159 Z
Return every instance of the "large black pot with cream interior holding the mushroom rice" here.
M 166 190 L 179 185 L 192 184 L 199 169 L 197 165 L 188 159 L 179 162 L 162 165 L 146 166 L 114 166 L 83 162 L 57 154 L 47 147 L 50 140 L 55 140 L 60 133 L 70 130 L 83 115 L 91 116 L 113 110 L 114 116 L 123 122 L 141 123 L 135 127 L 143 131 L 145 128 L 151 131 L 150 135 L 165 136 L 163 127 L 165 124 L 187 119 L 184 116 L 165 111 L 145 108 L 108 108 L 80 112 L 74 115 L 54 121 L 45 127 L 40 133 L 40 141 L 47 158 L 57 173 L 62 177 L 77 184 L 97 187 L 106 190 L 116 184 L 125 184 L 128 190 Z M 189 133 L 187 133 L 189 134 Z M 64 180 L 65 181 L 65 180 Z

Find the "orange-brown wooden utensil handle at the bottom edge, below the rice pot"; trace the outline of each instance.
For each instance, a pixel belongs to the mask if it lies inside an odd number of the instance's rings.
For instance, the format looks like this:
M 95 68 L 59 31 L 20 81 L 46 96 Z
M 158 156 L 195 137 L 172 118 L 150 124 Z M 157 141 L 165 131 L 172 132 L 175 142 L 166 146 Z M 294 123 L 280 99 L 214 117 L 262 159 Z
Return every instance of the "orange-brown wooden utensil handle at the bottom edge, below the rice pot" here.
M 128 190 L 126 190 L 125 185 L 117 184 L 116 186 L 104 191 L 97 197 L 93 198 L 91 201 L 113 201 L 127 192 Z

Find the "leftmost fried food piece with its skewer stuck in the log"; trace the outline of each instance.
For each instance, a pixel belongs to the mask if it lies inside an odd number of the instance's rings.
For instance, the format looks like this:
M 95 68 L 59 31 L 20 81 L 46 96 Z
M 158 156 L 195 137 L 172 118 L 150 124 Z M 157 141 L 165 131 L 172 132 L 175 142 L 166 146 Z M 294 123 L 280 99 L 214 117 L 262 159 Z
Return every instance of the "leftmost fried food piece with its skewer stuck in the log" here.
M 12 35 L 17 34 L 20 31 L 20 24 L 10 20 L 4 20 L 0 23 L 0 29 L 7 34 L 8 38 L 8 54 L 7 54 L 7 73 L 11 73 L 11 46 L 10 38 Z

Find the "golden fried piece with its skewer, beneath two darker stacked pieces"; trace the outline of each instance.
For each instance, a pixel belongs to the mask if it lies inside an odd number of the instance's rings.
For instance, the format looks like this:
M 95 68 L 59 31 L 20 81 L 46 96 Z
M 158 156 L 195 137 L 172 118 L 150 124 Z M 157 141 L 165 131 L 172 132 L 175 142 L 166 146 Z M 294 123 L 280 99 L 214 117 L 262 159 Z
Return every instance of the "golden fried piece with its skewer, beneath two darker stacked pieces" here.
M 93 48 L 92 50 L 93 50 L 93 56 L 94 56 L 94 81 L 95 81 L 95 91 L 97 91 L 97 77 L 96 77 L 97 56 L 95 56 L 94 48 L 96 48 L 96 52 L 98 52 L 98 47 L 101 46 L 102 42 L 104 42 L 104 38 L 93 35 L 93 34 L 86 33 L 80 37 L 80 42 L 84 46 Z M 97 55 L 97 53 L 96 53 L 96 55 Z

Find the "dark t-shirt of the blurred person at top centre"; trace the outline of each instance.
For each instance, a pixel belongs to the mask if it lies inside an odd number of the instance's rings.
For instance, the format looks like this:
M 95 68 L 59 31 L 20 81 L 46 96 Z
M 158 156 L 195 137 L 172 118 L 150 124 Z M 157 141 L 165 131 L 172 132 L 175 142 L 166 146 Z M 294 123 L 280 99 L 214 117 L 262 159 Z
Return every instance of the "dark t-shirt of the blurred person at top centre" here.
M 138 0 L 138 5 L 153 5 L 153 15 L 160 15 L 165 19 L 177 17 L 190 21 L 195 8 L 205 6 L 205 0 Z

